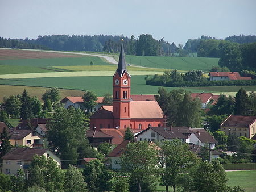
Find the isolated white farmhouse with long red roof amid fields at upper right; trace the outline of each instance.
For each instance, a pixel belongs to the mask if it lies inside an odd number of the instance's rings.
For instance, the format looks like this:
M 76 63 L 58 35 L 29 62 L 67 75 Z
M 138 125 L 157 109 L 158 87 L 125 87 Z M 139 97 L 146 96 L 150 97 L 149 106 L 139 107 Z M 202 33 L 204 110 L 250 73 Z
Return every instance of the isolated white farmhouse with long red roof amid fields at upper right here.
M 230 80 L 251 80 L 251 77 L 241 77 L 238 72 L 210 72 L 210 81 L 230 81 Z

